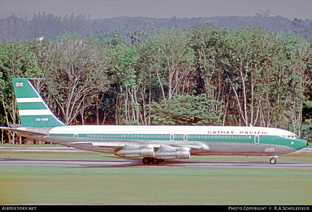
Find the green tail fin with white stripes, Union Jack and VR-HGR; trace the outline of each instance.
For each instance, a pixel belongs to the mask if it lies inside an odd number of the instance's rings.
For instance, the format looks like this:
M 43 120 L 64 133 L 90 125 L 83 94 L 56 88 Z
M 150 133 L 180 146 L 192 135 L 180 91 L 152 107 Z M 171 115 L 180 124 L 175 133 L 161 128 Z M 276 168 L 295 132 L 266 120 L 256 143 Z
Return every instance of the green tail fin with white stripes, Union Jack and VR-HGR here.
M 27 78 L 12 78 L 22 127 L 66 126 L 48 108 Z

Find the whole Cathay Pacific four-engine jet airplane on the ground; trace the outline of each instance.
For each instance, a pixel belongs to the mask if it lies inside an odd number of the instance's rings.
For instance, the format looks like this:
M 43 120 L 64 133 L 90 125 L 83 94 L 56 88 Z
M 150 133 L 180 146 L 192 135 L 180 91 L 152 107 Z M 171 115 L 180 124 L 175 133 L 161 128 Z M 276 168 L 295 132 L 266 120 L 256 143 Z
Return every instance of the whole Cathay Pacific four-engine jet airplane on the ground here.
M 189 159 L 191 155 L 259 155 L 276 163 L 280 154 L 308 142 L 295 133 L 265 127 L 68 126 L 53 115 L 29 78 L 12 78 L 21 125 L 0 127 L 23 137 L 125 158 L 144 164 Z

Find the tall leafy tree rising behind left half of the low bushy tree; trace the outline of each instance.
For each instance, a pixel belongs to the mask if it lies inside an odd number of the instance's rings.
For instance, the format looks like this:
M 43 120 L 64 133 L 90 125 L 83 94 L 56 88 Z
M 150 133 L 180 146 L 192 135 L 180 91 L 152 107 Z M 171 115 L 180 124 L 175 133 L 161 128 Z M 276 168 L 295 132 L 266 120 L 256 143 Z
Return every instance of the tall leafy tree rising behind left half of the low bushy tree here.
M 194 51 L 190 42 L 191 34 L 186 30 L 180 32 L 160 28 L 149 43 L 154 52 L 153 70 L 158 77 L 164 101 L 171 99 L 174 94 L 193 91 L 185 88 L 195 70 Z M 168 90 L 167 95 L 165 90 Z

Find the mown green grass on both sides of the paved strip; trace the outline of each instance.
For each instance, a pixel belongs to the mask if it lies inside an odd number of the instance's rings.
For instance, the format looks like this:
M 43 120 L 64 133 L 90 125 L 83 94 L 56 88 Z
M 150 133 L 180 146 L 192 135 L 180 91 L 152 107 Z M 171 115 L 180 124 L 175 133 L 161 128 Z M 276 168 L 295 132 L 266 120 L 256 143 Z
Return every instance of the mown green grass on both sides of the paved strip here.
M 311 161 L 293 153 L 279 161 Z M 97 152 L 0 152 L 0 158 L 114 159 Z M 267 157 L 191 157 L 267 161 Z M 0 166 L 0 204 L 311 205 L 312 170 Z

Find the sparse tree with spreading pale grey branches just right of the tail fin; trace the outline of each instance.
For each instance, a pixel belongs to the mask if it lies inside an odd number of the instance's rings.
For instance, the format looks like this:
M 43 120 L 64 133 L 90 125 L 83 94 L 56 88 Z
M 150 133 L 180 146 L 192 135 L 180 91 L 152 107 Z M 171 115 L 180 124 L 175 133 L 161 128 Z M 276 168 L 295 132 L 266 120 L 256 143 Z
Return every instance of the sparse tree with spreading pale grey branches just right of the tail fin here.
M 84 100 L 93 94 L 96 70 L 102 69 L 104 64 L 98 63 L 97 53 L 77 34 L 62 36 L 55 51 L 56 65 L 47 74 L 46 85 L 64 122 L 70 124 L 89 106 L 83 104 Z

